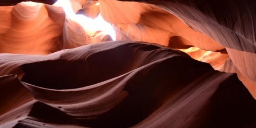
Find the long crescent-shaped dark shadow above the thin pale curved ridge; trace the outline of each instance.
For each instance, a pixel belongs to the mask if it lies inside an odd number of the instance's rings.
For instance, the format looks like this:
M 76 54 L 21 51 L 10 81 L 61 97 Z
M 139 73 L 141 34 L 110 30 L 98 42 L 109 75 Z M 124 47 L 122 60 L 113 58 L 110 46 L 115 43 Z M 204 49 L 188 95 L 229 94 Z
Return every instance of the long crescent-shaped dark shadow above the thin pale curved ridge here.
M 81 55 L 73 60 L 58 59 L 27 63 L 21 66 L 25 72 L 21 81 L 58 90 L 89 86 L 155 61 L 151 59 L 136 65 L 137 59 L 134 56 L 137 54 L 137 50 L 150 52 L 156 49 L 159 49 L 159 47 L 148 44 L 135 46 L 131 43 L 114 49 L 92 53 L 87 57 Z M 141 59 L 146 60 L 147 58 Z

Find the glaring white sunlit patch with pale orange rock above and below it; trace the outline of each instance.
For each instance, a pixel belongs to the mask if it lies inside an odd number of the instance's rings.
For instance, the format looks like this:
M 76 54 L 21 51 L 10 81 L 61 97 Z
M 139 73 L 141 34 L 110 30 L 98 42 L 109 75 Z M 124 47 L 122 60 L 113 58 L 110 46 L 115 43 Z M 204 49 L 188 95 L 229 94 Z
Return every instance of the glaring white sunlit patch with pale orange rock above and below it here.
M 66 13 L 63 49 L 115 39 L 115 32 L 110 23 L 103 20 L 99 14 L 98 1 L 60 0 L 54 5 L 62 6 Z

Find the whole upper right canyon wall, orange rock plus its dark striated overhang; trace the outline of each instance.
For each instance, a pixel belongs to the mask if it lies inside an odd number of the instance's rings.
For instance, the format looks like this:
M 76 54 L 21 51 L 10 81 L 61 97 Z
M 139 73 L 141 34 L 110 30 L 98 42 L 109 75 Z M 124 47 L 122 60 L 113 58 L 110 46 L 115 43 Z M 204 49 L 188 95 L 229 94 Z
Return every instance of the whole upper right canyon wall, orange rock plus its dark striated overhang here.
M 102 17 L 115 26 L 117 40 L 154 42 L 177 49 L 227 49 L 239 72 L 256 86 L 256 1 L 99 2 Z

